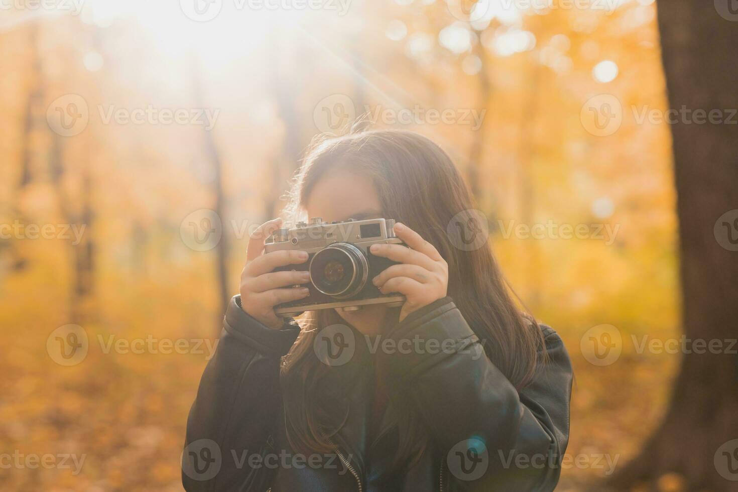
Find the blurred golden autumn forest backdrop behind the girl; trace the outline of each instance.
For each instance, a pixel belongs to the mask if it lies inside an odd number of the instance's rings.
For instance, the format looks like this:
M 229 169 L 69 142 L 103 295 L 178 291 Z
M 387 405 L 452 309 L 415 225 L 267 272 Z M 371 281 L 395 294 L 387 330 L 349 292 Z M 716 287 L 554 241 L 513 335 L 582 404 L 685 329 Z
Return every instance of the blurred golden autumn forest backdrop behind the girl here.
M 682 359 L 630 342 L 682 333 L 672 130 L 685 142 L 675 141 L 685 156 L 677 171 L 732 159 L 704 174 L 700 196 L 738 182 L 734 147 L 719 145 L 728 125 L 698 134 L 641 117 L 670 104 L 652 0 L 216 3 L 213 18 L 184 0 L 16 0 L 0 10 L 0 329 L 10 342 L 0 358 L 0 451 L 56 457 L 4 467 L 1 488 L 181 490 L 184 423 L 224 302 L 238 291 L 249 230 L 280 212 L 311 139 L 359 119 L 418 131 L 449 152 L 511 285 L 565 340 L 576 373 L 573 461 L 557 490 L 735 490 L 704 465 L 688 473 L 684 456 L 650 475 L 625 468 L 668 415 Z M 738 24 L 711 4 L 674 5 L 669 49 L 709 41 L 694 45 L 686 66 L 665 46 L 667 75 L 681 80 L 669 80 L 672 107 L 692 82 L 703 84 L 695 94 L 712 94 L 710 83 L 734 91 L 738 63 L 721 65 L 731 45 L 714 43 Z M 711 72 L 689 72 L 720 66 L 713 82 Z M 689 103 L 737 107 L 725 97 Z M 723 140 L 711 140 L 714 127 Z M 697 142 L 723 153 L 700 154 Z M 699 176 L 683 172 L 680 193 L 689 197 Z M 734 288 L 734 270 L 723 268 L 734 257 L 712 231 L 714 212 L 738 202 L 721 196 L 703 215 L 680 209 L 695 231 L 682 246 L 709 241 L 717 253 L 708 271 Z M 686 310 L 686 322 L 717 309 L 710 323 L 728 328 L 713 336 L 735 333 L 736 316 L 720 311 L 731 299 L 724 292 L 717 305 Z M 593 357 L 587 333 L 617 333 L 615 360 Z M 83 355 L 65 358 L 58 340 Z M 706 367 L 691 384 L 707 387 Z M 728 370 L 719 379 L 721 395 L 731 384 L 735 392 Z M 683 431 L 705 415 L 695 410 Z M 700 448 L 709 453 L 700 463 L 738 437 L 730 424 L 716 432 L 724 435 Z M 84 460 L 62 466 L 62 454 Z M 621 470 L 632 480 L 613 482 Z

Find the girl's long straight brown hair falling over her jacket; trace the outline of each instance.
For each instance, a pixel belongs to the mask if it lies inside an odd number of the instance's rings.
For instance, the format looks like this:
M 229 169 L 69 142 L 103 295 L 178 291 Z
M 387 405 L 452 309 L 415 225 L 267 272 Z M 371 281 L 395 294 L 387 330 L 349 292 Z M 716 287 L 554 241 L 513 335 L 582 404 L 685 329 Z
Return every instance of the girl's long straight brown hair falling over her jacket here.
M 297 172 L 287 211 L 296 218 L 315 184 L 332 170 L 367 176 L 376 187 L 385 218 L 418 232 L 438 249 L 449 265 L 448 294 L 472 330 L 485 341 L 487 356 L 518 389 L 533 378 L 542 335 L 535 320 L 511 297 L 489 245 L 472 251 L 453 246 L 446 227 L 454 215 L 475 208 L 461 175 L 444 150 L 410 131 L 364 131 L 318 142 Z M 321 381 L 331 370 L 312 347 L 320 330 L 340 322 L 333 310 L 300 320 L 302 330 L 282 366 L 286 430 L 292 447 L 305 454 L 328 452 L 325 429 L 337 431 L 341 418 L 331 416 Z M 393 402 L 394 403 L 394 402 Z M 407 403 L 407 402 L 405 402 Z M 413 462 L 424 451 L 427 429 L 413 418 L 409 404 L 399 403 L 399 449 L 396 464 Z M 337 422 L 338 420 L 338 422 Z

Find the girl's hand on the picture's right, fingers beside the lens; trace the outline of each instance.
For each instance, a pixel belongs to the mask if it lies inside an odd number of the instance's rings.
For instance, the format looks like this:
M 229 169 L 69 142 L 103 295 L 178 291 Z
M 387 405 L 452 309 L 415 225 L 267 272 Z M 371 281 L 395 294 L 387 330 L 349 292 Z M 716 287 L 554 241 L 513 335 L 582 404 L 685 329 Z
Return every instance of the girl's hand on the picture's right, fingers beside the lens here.
M 373 244 L 372 254 L 399 262 L 390 266 L 372 280 L 382 294 L 399 292 L 405 297 L 400 311 L 400 322 L 413 311 L 446 297 L 449 283 L 449 266 L 438 250 L 427 240 L 410 229 L 395 224 L 395 234 L 407 246 L 400 244 Z

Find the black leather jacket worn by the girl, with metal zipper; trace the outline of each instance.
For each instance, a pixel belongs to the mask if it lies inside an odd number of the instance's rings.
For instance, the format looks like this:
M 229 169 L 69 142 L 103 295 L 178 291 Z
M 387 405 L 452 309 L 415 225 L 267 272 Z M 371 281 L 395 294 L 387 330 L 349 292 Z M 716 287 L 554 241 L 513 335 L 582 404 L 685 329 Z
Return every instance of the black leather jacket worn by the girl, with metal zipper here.
M 391 471 L 397 426 L 387 417 L 392 392 L 380 431 L 369 434 L 374 373 L 364 337 L 354 332 L 354 356 L 322 383 L 348 408 L 331 438 L 335 452 L 296 454 L 286 440 L 279 371 L 299 327 L 270 330 L 239 304 L 238 296 L 230 302 L 187 420 L 187 491 L 554 490 L 568 442 L 572 371 L 551 328 L 542 327 L 546 362 L 520 392 L 481 350 L 449 297 L 393 328 L 387 337 L 394 342 L 419 337 L 443 347 L 376 351 L 391 391 L 412 402 L 430 429 L 420 461 L 397 472 Z

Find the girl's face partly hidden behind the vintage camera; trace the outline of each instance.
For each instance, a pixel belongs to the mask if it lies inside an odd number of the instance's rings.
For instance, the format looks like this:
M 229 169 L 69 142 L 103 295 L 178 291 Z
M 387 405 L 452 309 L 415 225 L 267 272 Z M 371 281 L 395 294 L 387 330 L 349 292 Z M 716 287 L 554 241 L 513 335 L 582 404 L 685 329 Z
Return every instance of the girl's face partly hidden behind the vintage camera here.
M 382 217 L 382 205 L 373 182 L 348 170 L 328 173 L 317 181 L 306 201 L 306 209 L 309 217 L 320 217 L 326 222 Z M 396 310 L 383 305 L 363 306 L 359 311 L 336 309 L 345 322 L 367 335 L 381 333 L 392 311 Z

